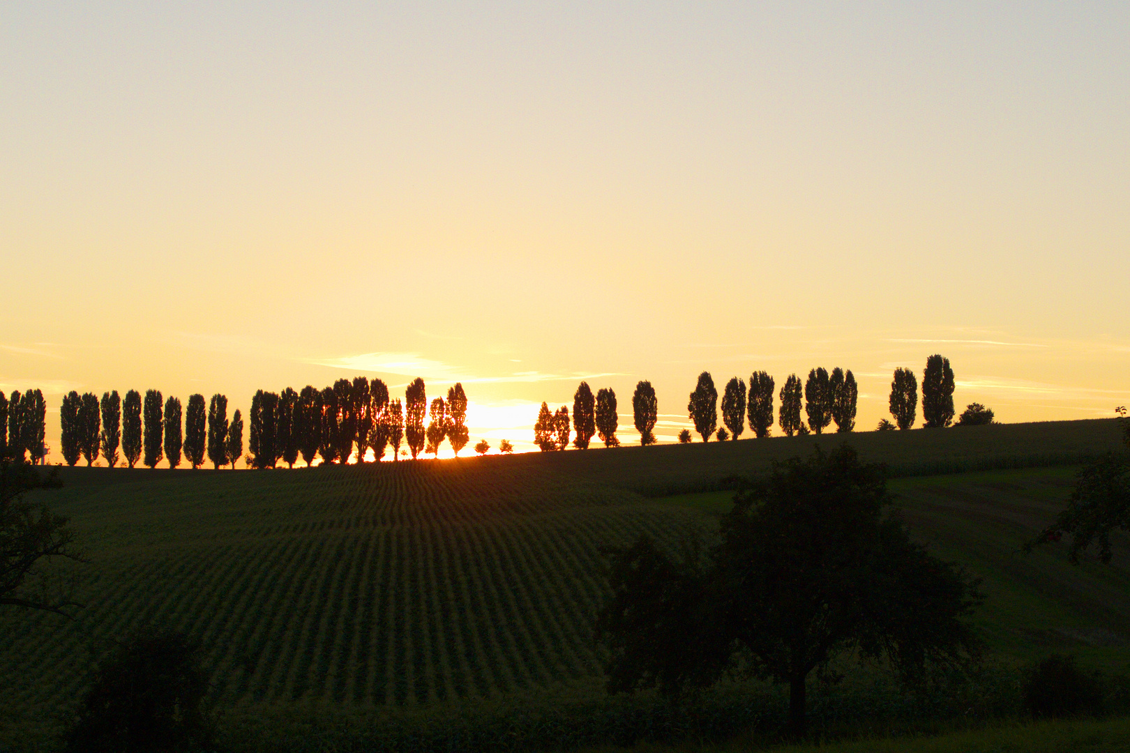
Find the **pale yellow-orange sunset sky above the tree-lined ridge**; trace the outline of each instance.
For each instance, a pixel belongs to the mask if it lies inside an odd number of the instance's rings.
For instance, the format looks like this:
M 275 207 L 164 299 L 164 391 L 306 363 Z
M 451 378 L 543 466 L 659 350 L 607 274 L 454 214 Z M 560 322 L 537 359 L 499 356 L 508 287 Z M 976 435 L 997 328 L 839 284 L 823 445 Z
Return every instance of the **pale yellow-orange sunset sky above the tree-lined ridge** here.
M 0 389 L 1130 402 L 1130 5 L 5 2 Z M 58 453 L 51 459 L 58 461 Z

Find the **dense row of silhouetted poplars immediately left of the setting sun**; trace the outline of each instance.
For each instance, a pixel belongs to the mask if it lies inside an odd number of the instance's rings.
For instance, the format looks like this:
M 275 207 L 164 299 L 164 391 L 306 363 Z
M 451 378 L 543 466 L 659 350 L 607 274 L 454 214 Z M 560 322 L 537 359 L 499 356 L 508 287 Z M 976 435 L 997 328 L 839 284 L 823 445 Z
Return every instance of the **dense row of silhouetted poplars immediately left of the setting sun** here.
M 431 421 L 425 422 L 428 415 Z M 447 389 L 446 400 L 435 397 L 428 411 L 419 377 L 408 385 L 403 401 L 390 400 L 381 379 L 363 376 L 338 379 L 323 389 L 313 385 L 301 392 L 260 389 L 251 400 L 249 420 L 247 465 L 255 469 L 272 469 L 279 462 L 294 467 L 299 456 L 306 465 L 318 457 L 323 464 L 345 464 L 355 448 L 357 463 L 367 462 L 368 450 L 380 461 L 386 447 L 398 459 L 402 443 L 412 459 L 420 452 L 438 456 L 444 440 L 458 456 L 470 438 L 463 385 Z

